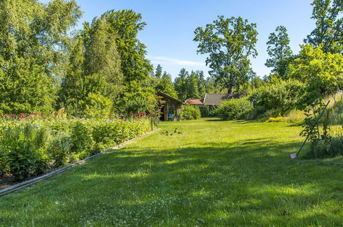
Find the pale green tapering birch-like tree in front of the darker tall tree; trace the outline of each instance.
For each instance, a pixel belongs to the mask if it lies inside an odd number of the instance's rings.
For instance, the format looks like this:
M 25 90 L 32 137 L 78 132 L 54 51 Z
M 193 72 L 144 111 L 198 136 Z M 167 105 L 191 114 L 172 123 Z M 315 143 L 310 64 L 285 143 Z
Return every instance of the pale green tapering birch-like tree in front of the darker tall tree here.
M 122 87 L 120 55 L 109 23 L 94 19 L 85 23 L 70 54 L 69 71 L 60 91 L 65 107 L 80 108 L 87 97 L 104 96 L 116 100 Z

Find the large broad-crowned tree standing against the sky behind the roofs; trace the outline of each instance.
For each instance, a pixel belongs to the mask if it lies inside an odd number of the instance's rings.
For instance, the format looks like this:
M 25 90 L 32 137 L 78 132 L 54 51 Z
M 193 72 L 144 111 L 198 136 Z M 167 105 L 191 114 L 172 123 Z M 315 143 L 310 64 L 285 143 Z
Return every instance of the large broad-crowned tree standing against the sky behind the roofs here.
M 194 41 L 199 42 L 197 53 L 209 54 L 206 65 L 213 76 L 228 93 L 236 91 L 248 80 L 251 71 L 249 57 L 255 57 L 256 24 L 241 17 L 225 19 L 219 16 L 206 28 L 195 30 Z

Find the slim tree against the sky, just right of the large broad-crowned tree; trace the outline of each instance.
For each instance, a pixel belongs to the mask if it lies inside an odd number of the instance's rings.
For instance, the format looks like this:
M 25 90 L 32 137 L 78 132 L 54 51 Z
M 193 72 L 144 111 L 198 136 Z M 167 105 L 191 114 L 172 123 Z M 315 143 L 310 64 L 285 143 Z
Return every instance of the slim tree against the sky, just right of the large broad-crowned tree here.
M 272 32 L 269 35 L 267 53 L 271 58 L 267 59 L 265 66 L 273 67 L 273 73 L 285 78 L 292 51 L 289 47 L 289 37 L 285 26 L 278 26 L 275 31 L 278 33 Z

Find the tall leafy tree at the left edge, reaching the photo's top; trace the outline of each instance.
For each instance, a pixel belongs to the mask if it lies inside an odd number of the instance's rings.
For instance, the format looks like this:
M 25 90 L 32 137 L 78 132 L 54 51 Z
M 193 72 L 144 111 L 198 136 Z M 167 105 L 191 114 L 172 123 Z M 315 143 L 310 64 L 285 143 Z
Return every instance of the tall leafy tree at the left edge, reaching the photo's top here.
M 65 74 L 76 1 L 0 1 L 2 111 L 50 111 Z

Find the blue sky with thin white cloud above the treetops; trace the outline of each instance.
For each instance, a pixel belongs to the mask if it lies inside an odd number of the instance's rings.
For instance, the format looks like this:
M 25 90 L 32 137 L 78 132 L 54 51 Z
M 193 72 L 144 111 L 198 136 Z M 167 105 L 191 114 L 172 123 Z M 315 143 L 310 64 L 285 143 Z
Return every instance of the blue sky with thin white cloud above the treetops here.
M 43 0 L 47 2 L 48 0 Z M 148 51 L 147 58 L 154 67 L 162 65 L 173 78 L 182 67 L 190 70 L 203 70 L 206 56 L 197 54 L 197 43 L 192 41 L 195 28 L 204 27 L 214 21 L 218 15 L 224 17 L 242 17 L 257 24 L 258 56 L 252 59 L 252 68 L 258 76 L 269 74 L 265 67 L 269 33 L 278 25 L 285 25 L 291 40 L 291 49 L 300 50 L 299 45 L 315 27 L 311 19 L 311 1 L 307 0 L 76 0 L 84 12 L 83 21 L 91 21 L 107 10 L 132 9 L 140 12 L 146 27 L 139 39 Z

